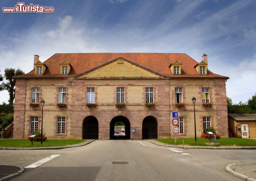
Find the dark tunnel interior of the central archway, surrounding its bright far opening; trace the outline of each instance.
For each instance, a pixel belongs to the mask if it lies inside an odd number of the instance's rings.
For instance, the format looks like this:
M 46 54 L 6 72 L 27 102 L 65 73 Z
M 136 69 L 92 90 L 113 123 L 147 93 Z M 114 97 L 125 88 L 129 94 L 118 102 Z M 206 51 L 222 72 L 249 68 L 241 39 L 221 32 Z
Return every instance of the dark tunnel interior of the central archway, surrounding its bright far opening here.
M 115 124 L 117 122 L 123 122 L 125 124 L 125 136 L 115 136 L 115 132 L 114 132 L 114 127 Z M 126 118 L 125 116 L 122 115 L 118 115 L 116 117 L 114 117 L 111 121 L 110 121 L 110 125 L 109 125 L 109 138 L 110 139 L 130 139 L 131 138 L 131 125 L 130 125 L 130 121 L 128 118 Z

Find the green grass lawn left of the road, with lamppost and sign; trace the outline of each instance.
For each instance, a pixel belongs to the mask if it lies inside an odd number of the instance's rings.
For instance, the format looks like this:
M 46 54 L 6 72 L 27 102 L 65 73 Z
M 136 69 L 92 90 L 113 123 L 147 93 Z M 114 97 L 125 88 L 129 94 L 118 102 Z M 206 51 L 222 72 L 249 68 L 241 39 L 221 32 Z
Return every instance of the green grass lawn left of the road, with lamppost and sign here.
M 43 142 L 33 140 L 33 146 L 28 139 L 0 139 L 0 147 L 48 147 L 48 146 L 64 146 L 68 144 L 77 144 L 84 142 L 85 139 L 48 139 Z

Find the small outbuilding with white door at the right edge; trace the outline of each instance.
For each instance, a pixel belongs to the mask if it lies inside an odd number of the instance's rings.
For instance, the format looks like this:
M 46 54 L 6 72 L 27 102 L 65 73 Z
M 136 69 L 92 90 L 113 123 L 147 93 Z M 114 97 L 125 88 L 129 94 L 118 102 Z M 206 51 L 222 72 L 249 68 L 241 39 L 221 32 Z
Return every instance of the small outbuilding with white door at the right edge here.
M 228 114 L 228 135 L 256 138 L 256 114 Z

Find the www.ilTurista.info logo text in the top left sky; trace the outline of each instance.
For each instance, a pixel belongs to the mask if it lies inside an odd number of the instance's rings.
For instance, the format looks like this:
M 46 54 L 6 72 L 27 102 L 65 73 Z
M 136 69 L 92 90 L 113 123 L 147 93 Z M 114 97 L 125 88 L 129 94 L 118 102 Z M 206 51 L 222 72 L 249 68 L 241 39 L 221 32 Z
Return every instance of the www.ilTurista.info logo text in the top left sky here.
M 30 3 L 25 6 L 25 3 L 17 3 L 14 8 L 3 8 L 4 13 L 54 13 L 53 7 L 43 7 Z

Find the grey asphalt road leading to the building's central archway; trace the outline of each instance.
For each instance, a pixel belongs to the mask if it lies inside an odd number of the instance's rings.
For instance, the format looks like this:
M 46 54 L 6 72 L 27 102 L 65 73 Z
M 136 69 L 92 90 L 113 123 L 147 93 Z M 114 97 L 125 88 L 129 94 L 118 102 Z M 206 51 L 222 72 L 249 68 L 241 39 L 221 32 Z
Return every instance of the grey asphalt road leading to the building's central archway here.
M 182 155 L 182 153 L 189 155 Z M 170 150 L 146 140 L 96 140 L 62 150 L 0 150 L 0 164 L 26 167 L 50 155 L 60 155 L 13 180 L 240 180 L 225 167 L 256 163 L 253 150 Z M 128 162 L 125 165 L 113 161 Z

